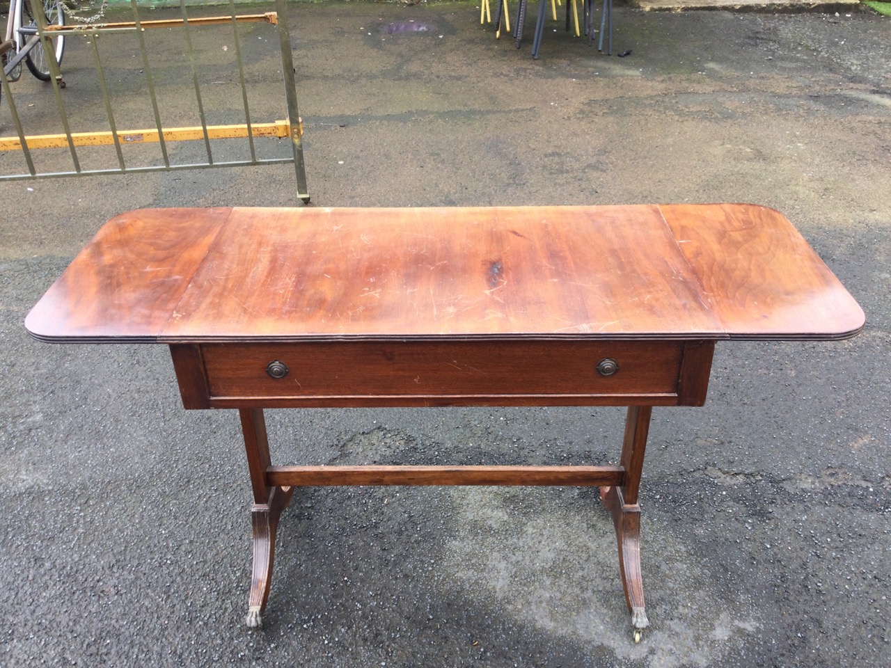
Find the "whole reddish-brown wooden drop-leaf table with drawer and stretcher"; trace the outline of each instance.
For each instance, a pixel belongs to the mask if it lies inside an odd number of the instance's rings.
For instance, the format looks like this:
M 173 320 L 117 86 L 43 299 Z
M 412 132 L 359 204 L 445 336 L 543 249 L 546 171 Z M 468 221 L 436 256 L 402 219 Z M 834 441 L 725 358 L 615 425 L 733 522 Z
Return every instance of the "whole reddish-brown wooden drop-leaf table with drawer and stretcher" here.
M 300 485 L 597 485 L 635 639 L 653 406 L 702 405 L 715 341 L 840 339 L 864 316 L 752 205 L 174 208 L 112 219 L 26 320 L 170 346 L 187 409 L 237 408 L 253 489 L 247 622 Z M 272 466 L 264 408 L 628 406 L 618 466 Z

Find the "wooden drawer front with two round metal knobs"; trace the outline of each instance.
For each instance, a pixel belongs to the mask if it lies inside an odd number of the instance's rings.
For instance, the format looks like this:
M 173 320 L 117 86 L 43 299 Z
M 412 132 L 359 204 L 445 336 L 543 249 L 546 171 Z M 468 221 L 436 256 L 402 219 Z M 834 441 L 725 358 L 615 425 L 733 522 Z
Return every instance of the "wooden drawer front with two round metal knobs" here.
M 214 405 L 677 403 L 683 342 L 202 344 Z M 602 401 L 593 401 L 600 396 Z M 375 400 L 375 397 L 377 400 Z M 615 398 L 613 400 L 612 398 Z

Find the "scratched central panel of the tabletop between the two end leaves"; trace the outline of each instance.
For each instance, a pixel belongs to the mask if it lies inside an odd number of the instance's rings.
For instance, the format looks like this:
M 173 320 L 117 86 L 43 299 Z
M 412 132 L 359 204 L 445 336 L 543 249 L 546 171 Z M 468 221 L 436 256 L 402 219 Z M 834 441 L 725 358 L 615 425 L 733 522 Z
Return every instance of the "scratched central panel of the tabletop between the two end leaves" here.
M 721 334 L 653 207 L 235 209 L 227 228 L 166 339 Z

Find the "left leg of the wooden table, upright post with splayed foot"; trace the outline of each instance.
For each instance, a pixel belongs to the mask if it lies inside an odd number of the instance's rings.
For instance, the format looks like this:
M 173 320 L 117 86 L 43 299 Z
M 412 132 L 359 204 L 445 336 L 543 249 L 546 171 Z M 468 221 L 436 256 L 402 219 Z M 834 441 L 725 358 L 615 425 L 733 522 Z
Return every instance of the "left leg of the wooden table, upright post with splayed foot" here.
M 282 510 L 294 495 L 293 487 L 266 485 L 266 469 L 270 466 L 266 420 L 261 409 L 240 409 L 241 431 L 248 456 L 250 483 L 254 504 L 250 509 L 253 527 L 253 567 L 250 578 L 248 616 L 245 622 L 255 628 L 263 623 L 263 611 L 269 599 L 275 555 L 275 531 Z

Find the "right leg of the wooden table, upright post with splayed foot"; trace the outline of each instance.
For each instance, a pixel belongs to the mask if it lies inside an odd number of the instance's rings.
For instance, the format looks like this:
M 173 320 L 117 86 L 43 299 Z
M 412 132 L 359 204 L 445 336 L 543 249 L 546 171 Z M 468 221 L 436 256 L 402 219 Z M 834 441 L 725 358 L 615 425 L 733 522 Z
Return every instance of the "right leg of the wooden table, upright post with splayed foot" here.
M 637 491 L 641 482 L 651 413 L 650 406 L 628 408 L 621 460 L 622 467 L 625 468 L 625 482 L 621 487 L 601 487 L 601 501 L 609 509 L 616 528 L 619 573 L 622 575 L 625 603 L 631 612 L 636 641 L 641 639 L 642 630 L 650 625 L 643 603 L 641 507 L 637 503 Z

